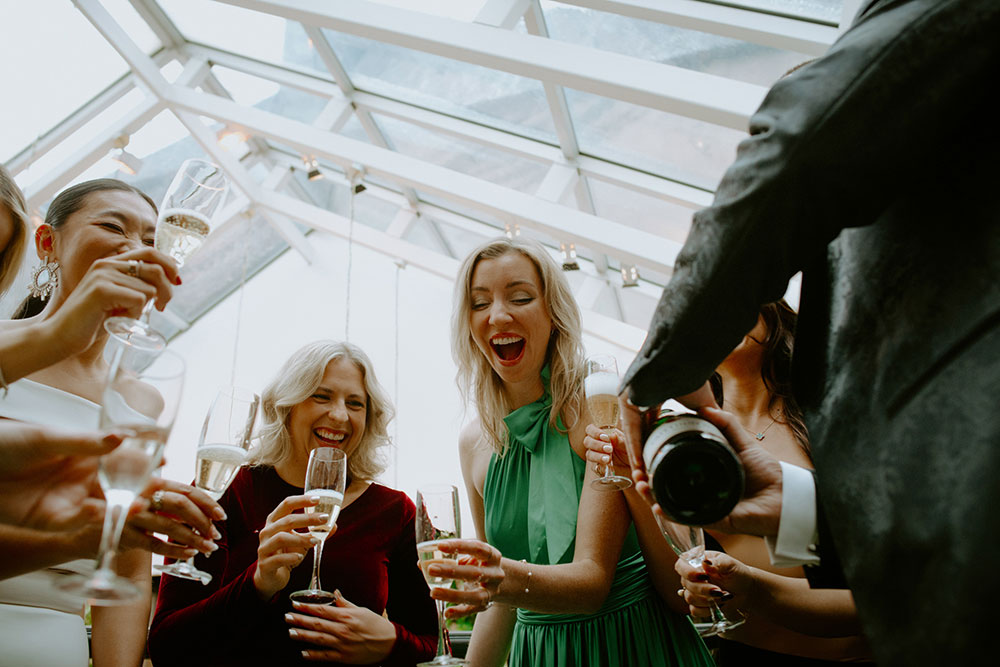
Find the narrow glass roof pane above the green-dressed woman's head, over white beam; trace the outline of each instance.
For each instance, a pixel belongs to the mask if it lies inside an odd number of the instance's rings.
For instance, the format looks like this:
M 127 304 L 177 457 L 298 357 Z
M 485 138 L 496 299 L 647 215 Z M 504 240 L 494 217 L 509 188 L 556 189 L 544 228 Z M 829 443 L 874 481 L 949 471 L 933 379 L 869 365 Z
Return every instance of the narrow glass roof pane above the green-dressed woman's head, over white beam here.
M 545 178 L 547 168 L 539 162 L 389 116 L 372 115 L 392 147 L 404 155 L 521 192 L 534 192 Z

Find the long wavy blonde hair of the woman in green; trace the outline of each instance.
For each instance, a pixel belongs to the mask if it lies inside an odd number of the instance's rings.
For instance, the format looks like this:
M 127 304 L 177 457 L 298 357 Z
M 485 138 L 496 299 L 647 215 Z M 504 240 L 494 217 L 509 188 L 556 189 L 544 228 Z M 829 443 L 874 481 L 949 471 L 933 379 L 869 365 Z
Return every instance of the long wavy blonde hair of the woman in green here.
M 501 237 L 479 246 L 462 262 L 455 282 L 455 306 L 452 312 L 451 353 L 458 365 L 456 381 L 466 401 L 471 397 L 479 411 L 483 436 L 494 451 L 507 449 L 507 425 L 503 418 L 513 410 L 503 382 L 472 338 L 469 318 L 472 313 L 472 274 L 484 259 L 496 259 L 512 252 L 527 257 L 542 281 L 542 299 L 552 318 L 554 332 L 549 339 L 545 360 L 549 364 L 552 410 L 549 423 L 558 428 L 562 415 L 567 427 L 581 416 L 583 404 L 583 340 L 580 309 L 569 282 L 548 251 L 535 241 Z

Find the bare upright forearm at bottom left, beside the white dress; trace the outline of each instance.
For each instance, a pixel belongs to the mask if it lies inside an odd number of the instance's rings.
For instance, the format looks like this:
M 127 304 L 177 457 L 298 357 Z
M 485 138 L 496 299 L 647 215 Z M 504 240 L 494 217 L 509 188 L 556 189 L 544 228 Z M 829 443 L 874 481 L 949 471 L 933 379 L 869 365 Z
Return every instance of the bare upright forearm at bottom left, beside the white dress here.
M 141 595 L 121 607 L 92 607 L 92 653 L 94 667 L 138 667 L 146 652 L 149 622 L 150 554 L 133 549 L 118 556 L 118 572 L 127 577 Z

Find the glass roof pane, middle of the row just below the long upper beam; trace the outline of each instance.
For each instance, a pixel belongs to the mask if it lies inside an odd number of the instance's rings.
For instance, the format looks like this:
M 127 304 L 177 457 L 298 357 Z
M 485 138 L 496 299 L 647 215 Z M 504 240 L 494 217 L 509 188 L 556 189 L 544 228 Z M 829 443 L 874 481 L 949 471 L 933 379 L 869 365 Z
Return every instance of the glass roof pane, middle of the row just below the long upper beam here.
M 360 90 L 556 143 L 542 84 L 534 79 L 324 30 Z

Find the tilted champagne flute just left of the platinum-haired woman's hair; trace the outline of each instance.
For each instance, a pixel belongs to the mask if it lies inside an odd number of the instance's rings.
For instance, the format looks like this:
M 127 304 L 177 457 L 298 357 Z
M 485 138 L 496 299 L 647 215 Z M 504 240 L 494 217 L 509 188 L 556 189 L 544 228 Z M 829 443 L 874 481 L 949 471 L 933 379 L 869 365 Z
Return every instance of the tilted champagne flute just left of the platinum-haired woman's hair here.
M 260 396 L 249 389 L 232 386 L 220 389 L 212 401 L 198 438 L 194 484 L 213 500 L 222 497 L 246 461 L 259 405 Z M 194 556 L 153 568 L 205 585 L 212 581 L 212 575 L 195 566 Z

